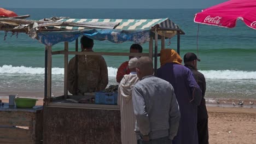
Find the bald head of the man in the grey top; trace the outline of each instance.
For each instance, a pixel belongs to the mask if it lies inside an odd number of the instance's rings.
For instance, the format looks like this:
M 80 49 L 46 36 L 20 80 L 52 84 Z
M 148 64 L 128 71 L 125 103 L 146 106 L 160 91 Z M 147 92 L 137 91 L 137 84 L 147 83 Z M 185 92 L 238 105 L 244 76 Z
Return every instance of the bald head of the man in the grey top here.
M 136 63 L 136 73 L 141 80 L 142 77 L 154 74 L 153 62 L 149 57 L 141 57 Z

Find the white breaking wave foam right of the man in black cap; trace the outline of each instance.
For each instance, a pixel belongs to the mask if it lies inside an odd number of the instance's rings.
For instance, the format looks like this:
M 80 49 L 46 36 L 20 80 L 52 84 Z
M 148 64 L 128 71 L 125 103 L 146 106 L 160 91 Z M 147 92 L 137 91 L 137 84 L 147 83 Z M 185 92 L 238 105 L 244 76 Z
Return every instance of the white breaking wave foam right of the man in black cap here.
M 243 80 L 256 79 L 256 71 L 242 70 L 199 70 L 206 79 Z

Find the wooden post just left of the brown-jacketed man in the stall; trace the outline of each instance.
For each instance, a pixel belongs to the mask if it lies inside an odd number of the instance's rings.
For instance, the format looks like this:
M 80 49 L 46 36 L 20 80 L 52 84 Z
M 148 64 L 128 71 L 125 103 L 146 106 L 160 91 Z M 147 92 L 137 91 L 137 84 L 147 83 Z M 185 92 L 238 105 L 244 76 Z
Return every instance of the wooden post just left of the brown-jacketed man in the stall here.
M 68 95 L 68 41 L 64 44 L 64 98 L 67 99 Z

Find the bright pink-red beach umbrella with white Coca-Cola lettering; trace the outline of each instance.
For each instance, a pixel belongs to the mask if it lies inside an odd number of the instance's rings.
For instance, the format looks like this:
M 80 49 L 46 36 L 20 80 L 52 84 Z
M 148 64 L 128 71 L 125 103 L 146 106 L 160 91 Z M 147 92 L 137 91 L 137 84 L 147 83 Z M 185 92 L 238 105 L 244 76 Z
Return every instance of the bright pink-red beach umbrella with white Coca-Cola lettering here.
M 233 28 L 242 20 L 256 29 L 256 0 L 230 0 L 195 14 L 194 22 L 219 27 Z

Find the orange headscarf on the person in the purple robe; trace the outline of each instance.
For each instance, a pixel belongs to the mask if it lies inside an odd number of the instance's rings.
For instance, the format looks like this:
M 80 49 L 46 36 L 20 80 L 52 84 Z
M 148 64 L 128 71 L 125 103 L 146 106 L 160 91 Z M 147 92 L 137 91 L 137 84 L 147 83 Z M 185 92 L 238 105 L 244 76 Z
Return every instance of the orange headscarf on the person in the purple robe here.
M 166 63 L 182 63 L 182 58 L 176 51 L 172 49 L 162 49 L 160 53 L 161 66 L 165 65 Z

